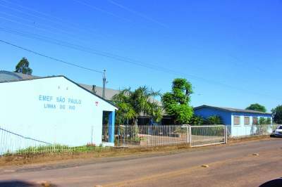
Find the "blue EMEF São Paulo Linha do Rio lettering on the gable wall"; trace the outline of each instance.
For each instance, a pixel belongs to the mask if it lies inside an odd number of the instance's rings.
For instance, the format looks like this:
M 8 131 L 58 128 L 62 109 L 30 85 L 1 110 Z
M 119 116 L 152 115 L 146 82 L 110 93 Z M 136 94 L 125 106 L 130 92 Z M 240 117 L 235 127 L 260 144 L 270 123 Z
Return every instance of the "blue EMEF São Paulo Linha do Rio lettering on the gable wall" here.
M 38 100 L 43 102 L 44 109 L 76 110 L 82 101 L 78 98 L 68 98 L 63 96 L 39 95 Z

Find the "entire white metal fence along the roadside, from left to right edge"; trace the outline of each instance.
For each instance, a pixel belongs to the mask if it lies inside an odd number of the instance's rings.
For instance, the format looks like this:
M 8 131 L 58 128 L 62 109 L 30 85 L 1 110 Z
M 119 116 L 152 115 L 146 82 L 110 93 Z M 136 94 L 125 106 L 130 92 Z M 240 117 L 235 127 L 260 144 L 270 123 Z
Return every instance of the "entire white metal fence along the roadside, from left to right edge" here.
M 166 146 L 180 143 L 188 143 L 191 147 L 209 146 L 226 143 L 228 136 L 269 135 L 276 127 L 277 125 L 270 124 L 245 126 L 240 129 L 224 125 L 116 125 L 114 129 L 114 148 Z M 102 127 L 103 143 L 109 142 L 108 130 L 108 126 L 104 125 Z M 32 129 L 30 129 L 30 132 L 32 132 Z M 61 136 L 73 138 L 73 140 L 79 140 L 80 138 L 68 137 L 67 133 Z M 53 139 L 46 142 L 39 138 L 22 136 L 8 129 L 0 128 L 0 156 L 5 154 L 73 153 L 104 149 L 105 147 L 95 145 L 91 141 L 90 143 L 85 142 L 83 145 L 70 146 L 56 142 Z

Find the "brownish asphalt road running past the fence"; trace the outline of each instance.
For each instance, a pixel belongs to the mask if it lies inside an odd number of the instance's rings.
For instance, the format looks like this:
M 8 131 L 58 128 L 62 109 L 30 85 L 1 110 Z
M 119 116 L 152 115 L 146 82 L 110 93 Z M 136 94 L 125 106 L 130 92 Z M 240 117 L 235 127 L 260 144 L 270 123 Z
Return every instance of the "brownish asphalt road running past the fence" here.
M 171 154 L 0 167 L 0 186 L 11 183 L 25 186 L 24 182 L 49 181 L 56 186 L 249 187 L 282 177 L 281 159 L 282 138 L 271 138 Z

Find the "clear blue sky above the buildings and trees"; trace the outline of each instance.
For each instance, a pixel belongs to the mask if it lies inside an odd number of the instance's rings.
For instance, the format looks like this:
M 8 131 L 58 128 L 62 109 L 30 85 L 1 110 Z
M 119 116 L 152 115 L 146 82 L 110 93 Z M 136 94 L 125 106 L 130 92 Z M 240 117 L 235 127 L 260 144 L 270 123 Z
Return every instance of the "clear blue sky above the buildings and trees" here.
M 261 103 L 271 110 L 282 104 L 281 8 L 278 0 L 0 0 L 0 39 L 106 69 L 113 89 L 147 85 L 164 93 L 173 78 L 185 77 L 194 86 L 193 106 Z M 61 41 L 71 44 L 54 44 Z M 80 51 L 66 47 L 75 45 Z M 0 51 L 1 70 L 13 70 L 26 57 L 34 75 L 102 85 L 99 73 L 6 44 Z

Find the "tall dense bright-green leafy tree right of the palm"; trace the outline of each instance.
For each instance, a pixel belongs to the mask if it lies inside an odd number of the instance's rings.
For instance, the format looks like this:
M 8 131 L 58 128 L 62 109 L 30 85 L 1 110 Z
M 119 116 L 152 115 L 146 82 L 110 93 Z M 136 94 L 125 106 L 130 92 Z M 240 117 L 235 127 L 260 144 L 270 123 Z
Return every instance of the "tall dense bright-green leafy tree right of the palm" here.
M 174 123 L 188 124 L 193 116 L 193 108 L 189 105 L 192 84 L 187 79 L 174 79 L 172 91 L 164 93 L 161 101 L 164 110 L 173 117 Z

